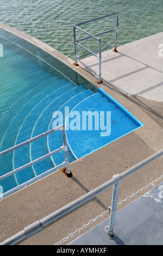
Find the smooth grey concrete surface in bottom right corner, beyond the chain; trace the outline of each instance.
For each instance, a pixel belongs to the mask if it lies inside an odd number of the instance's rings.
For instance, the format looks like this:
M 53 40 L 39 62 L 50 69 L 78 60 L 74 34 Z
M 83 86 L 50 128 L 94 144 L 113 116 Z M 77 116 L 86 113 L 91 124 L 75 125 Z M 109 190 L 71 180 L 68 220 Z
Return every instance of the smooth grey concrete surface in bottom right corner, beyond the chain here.
M 69 245 L 163 245 L 163 182 L 116 213 L 116 237 L 104 228 L 109 218 Z

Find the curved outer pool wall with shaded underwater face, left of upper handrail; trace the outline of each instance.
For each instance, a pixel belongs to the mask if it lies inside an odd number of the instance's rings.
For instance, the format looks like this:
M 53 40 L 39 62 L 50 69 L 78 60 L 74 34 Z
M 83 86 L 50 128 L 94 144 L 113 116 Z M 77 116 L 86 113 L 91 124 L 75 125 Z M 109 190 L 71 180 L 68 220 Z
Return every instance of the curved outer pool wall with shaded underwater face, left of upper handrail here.
M 82 76 L 80 75 L 79 68 L 73 65 L 73 60 L 62 54 L 61 52 L 55 50 L 51 46 L 46 45 L 45 43 L 33 38 L 30 35 L 27 35 L 23 32 L 18 31 L 15 28 L 11 28 L 3 23 L 0 23 L 0 29 L 4 29 L 5 33 L 8 33 L 8 39 L 12 40 L 15 44 L 22 47 L 26 51 L 32 53 L 34 56 L 39 57 L 45 61 L 45 64 L 51 65 L 54 69 L 57 69 L 59 72 L 64 70 L 64 75 L 71 80 L 72 82 L 76 83 L 77 86 L 82 84 L 83 87 L 86 89 L 91 89 L 93 92 L 97 92 L 96 86 L 93 86 L 93 83 L 96 84 L 96 78 L 90 78 L 90 80 L 86 79 L 87 72 L 83 70 Z M 15 35 L 15 38 L 14 38 Z M 23 39 L 23 40 L 22 40 Z M 25 40 L 25 41 L 24 41 Z M 73 42 L 72 42 L 73 44 Z M 32 47 L 33 46 L 33 47 Z M 29 50 L 30 49 L 30 50 Z M 54 62 L 55 58 L 55 62 Z M 42 62 L 40 63 L 42 65 Z M 46 68 L 46 65 L 43 66 Z M 75 71 L 75 72 L 74 72 Z

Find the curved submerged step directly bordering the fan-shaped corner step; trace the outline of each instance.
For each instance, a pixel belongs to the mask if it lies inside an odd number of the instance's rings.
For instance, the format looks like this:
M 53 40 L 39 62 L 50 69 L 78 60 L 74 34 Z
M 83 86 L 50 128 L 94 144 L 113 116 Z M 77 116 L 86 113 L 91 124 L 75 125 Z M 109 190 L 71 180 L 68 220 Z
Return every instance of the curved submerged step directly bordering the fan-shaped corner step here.
M 59 109 L 59 111 L 62 113 L 63 124 L 65 124 L 65 118 L 66 118 L 65 117 L 65 108 L 68 107 L 67 111 L 69 111 L 68 113 L 70 113 L 72 111 L 72 109 L 75 106 L 77 106 L 81 101 L 83 101 L 84 99 L 86 99 L 87 97 L 89 97 L 93 94 L 95 94 L 95 93 L 93 93 L 92 90 L 87 89 L 84 92 L 72 97 L 70 100 L 65 102 L 65 104 L 63 106 L 61 106 L 61 108 Z M 68 113 L 66 113 L 66 116 L 68 115 Z M 49 124 L 48 130 L 51 130 L 57 126 L 55 124 L 57 121 L 57 116 L 58 116 L 58 112 L 55 113 L 55 115 L 53 116 L 53 119 L 52 119 L 51 123 Z M 49 152 L 51 152 L 55 149 L 54 144 L 56 145 L 57 148 L 59 148 L 62 145 L 62 143 L 63 143 L 62 132 L 54 132 L 54 133 L 52 133 L 52 135 L 47 136 L 47 145 L 48 145 Z M 63 162 L 65 160 L 64 151 L 61 151 L 58 154 L 53 155 L 51 157 L 51 159 L 55 165 L 58 165 L 59 163 Z M 73 162 L 74 160 L 76 160 L 69 148 L 68 148 L 68 159 L 70 162 Z

